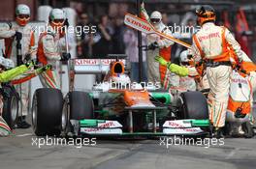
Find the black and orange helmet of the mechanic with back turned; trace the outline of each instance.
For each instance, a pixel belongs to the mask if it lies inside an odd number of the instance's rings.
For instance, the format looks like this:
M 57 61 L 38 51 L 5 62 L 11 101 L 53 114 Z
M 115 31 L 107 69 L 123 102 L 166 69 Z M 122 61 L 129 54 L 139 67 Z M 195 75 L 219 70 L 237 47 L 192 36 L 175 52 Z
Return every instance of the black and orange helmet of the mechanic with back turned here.
M 216 20 L 215 10 L 209 5 L 203 5 L 196 9 L 198 23 L 202 26 L 206 22 L 214 22 Z

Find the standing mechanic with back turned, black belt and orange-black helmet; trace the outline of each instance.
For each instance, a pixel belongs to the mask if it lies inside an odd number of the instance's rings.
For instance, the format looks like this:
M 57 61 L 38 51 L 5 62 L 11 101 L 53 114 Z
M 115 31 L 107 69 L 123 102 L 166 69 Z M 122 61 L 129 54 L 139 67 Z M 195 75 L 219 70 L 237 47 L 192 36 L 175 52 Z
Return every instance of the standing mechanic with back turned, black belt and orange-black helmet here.
M 225 126 L 226 111 L 229 99 L 230 77 L 232 64 L 231 50 L 242 61 L 240 44 L 231 32 L 214 24 L 216 14 L 208 5 L 197 9 L 198 23 L 202 27 L 193 36 L 192 55 L 195 60 L 206 62 L 206 73 L 209 83 L 209 119 L 214 127 L 213 134 L 222 137 L 222 127 Z

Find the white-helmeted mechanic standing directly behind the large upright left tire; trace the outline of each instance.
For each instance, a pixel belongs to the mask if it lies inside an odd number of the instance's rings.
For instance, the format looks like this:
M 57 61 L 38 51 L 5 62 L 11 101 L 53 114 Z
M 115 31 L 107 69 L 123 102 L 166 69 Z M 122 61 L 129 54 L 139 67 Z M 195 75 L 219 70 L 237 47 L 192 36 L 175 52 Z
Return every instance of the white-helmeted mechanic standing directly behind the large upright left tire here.
M 60 9 L 52 9 L 48 16 L 48 30 L 40 35 L 38 42 L 38 61 L 45 65 L 50 64 L 52 70 L 40 74 L 44 87 L 60 89 L 59 61 L 65 61 L 70 55 L 64 53 L 65 48 L 65 14 Z

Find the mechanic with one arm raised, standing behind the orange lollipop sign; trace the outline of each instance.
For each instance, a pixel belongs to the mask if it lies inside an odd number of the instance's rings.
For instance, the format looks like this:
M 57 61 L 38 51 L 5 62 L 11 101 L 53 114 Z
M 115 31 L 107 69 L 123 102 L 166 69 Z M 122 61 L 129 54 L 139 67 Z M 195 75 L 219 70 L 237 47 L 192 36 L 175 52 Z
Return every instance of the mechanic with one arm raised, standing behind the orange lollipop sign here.
M 144 19 L 150 22 L 154 28 L 164 34 L 172 36 L 172 33 L 168 26 L 162 22 L 162 14 L 155 11 L 150 14 L 150 17 L 144 9 L 144 3 L 141 6 L 141 14 Z M 167 39 L 160 38 L 155 34 L 147 35 L 148 50 L 146 53 L 147 63 L 147 80 L 148 82 L 159 83 L 164 89 L 168 89 L 171 86 L 178 86 L 178 76 L 171 73 L 165 66 L 159 65 L 155 62 L 155 56 L 162 56 L 165 60 L 171 60 L 171 45 L 174 42 Z

